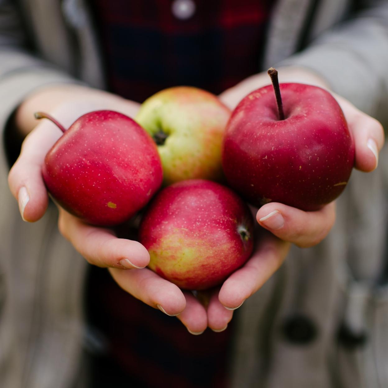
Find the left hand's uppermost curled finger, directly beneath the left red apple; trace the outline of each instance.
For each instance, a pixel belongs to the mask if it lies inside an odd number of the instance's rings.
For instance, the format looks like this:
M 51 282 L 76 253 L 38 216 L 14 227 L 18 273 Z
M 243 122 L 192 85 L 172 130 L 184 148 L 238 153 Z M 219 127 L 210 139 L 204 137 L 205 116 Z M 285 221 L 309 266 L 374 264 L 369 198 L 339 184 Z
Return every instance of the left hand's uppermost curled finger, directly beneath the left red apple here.
M 149 253 L 140 242 L 119 239 L 112 230 L 87 225 L 62 208 L 59 209 L 58 226 L 90 264 L 132 269 L 144 268 L 149 263 Z

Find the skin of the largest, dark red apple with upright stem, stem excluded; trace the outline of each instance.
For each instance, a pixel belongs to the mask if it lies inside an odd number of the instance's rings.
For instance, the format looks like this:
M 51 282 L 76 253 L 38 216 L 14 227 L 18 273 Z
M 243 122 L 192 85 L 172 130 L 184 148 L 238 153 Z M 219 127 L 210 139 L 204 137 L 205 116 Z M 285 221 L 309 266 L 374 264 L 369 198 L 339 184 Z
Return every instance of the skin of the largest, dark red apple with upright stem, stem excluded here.
M 285 120 L 278 120 L 272 85 L 246 96 L 232 113 L 223 142 L 225 176 L 255 206 L 318 210 L 349 180 L 352 135 L 326 90 L 298 83 L 280 88 Z

